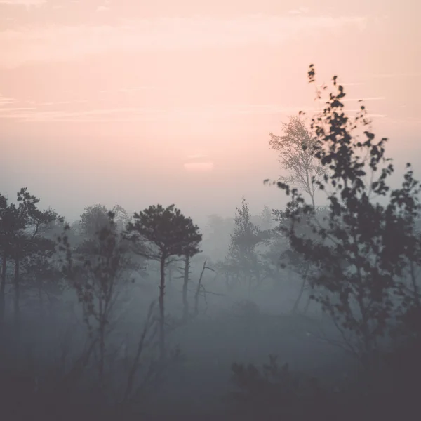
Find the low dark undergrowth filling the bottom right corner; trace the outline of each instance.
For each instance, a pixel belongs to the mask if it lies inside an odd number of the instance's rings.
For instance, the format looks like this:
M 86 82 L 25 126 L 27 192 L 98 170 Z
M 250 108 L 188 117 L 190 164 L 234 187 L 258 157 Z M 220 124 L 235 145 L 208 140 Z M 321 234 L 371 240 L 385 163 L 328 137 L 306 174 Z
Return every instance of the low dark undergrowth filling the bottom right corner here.
M 414 348 L 411 348 L 414 351 Z M 416 351 L 419 353 L 419 345 Z M 418 356 L 408 348 L 388 356 L 387 371 L 369 389 L 358 379 L 343 382 L 320 382 L 314 377 L 291 370 L 288 363 L 279 366 L 276 356 L 258 368 L 253 364 L 232 364 L 231 394 L 236 411 L 243 420 L 323 420 L 353 421 L 396 420 L 417 411 Z M 414 370 L 415 368 L 415 370 Z

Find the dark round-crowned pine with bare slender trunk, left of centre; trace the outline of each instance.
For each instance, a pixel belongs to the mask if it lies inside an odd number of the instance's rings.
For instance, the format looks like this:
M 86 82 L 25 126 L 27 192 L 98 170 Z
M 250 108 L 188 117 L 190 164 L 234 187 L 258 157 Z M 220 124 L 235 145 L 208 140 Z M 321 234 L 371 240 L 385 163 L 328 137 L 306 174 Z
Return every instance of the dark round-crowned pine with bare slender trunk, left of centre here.
M 165 357 L 165 267 L 171 256 L 192 256 L 199 252 L 202 235 L 199 227 L 191 218 L 182 215 L 175 205 L 163 208 L 161 205 L 149 206 L 133 215 L 133 222 L 127 225 L 127 236 L 132 241 L 145 243 L 141 253 L 146 258 L 160 263 L 161 281 L 159 283 L 159 351 L 161 361 Z

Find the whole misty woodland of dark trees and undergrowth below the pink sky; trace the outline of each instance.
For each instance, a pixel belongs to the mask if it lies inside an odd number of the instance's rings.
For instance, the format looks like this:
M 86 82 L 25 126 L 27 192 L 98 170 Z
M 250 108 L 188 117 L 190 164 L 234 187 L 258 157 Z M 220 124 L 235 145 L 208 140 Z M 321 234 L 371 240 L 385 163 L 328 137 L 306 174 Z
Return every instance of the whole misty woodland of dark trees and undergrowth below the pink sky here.
M 0 196 L 1 419 L 419 417 L 420 186 L 408 164 L 389 187 L 387 140 L 344 97 L 334 77 L 271 134 L 288 205 L 243 199 L 226 250 L 217 216 L 203 239 L 175 206 L 68 225 Z

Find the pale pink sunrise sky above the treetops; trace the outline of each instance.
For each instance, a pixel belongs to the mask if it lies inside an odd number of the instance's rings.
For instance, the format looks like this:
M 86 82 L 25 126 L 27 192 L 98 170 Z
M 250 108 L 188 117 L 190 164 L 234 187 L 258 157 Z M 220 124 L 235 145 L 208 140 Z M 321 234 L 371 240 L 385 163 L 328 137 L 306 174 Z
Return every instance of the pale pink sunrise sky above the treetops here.
M 0 0 L 0 192 L 187 215 L 286 203 L 269 132 L 338 75 L 388 152 L 420 161 L 420 3 Z M 421 175 L 421 174 L 420 174 Z

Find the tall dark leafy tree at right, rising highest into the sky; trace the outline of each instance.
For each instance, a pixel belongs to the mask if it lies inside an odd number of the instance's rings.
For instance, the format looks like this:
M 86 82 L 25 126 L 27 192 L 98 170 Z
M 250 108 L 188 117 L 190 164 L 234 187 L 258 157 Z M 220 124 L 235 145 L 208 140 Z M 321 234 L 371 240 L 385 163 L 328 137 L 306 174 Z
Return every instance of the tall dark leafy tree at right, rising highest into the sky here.
M 314 82 L 313 66 L 309 81 Z M 336 76 L 333 88 L 311 126 L 316 136 L 312 154 L 326 168 L 314 183 L 326 192 L 327 215 L 319 220 L 297 189 L 278 182 L 291 196 L 285 213 L 291 223 L 283 232 L 291 248 L 319 268 L 311 279 L 319 287 L 315 298 L 332 316 L 347 349 L 373 368 L 378 341 L 393 318 L 420 303 L 412 270 L 421 262 L 415 234 L 420 186 L 408 164 L 402 187 L 389 188 L 394 167 L 385 158 L 387 139 L 375 140 L 363 105 L 354 118 L 345 114 L 345 91 Z M 376 201 L 379 196 L 387 204 Z M 297 229 L 303 217 L 312 238 Z

